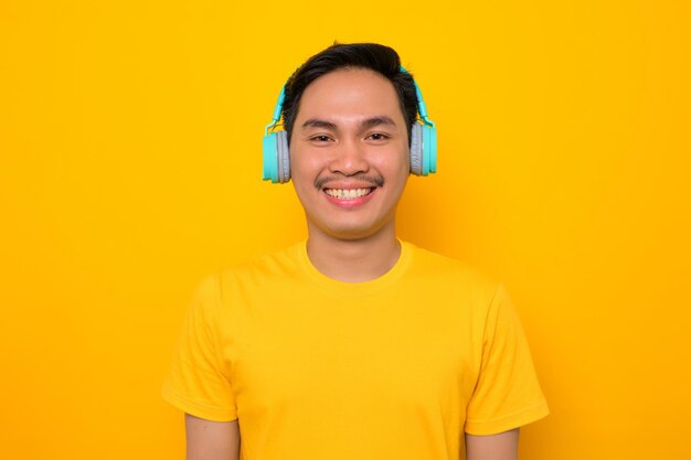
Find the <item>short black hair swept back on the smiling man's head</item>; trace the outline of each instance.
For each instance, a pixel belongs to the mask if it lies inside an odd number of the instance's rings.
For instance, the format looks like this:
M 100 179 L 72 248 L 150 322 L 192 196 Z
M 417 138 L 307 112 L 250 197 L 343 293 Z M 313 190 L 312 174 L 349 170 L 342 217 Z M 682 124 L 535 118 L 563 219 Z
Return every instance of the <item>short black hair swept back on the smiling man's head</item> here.
M 396 95 L 408 130 L 417 119 L 417 94 L 413 76 L 401 69 L 401 58 L 392 47 L 378 43 L 334 43 L 311 56 L 288 78 L 283 105 L 283 126 L 288 132 L 288 141 L 298 113 L 300 97 L 317 78 L 344 67 L 359 67 L 374 71 L 389 79 Z

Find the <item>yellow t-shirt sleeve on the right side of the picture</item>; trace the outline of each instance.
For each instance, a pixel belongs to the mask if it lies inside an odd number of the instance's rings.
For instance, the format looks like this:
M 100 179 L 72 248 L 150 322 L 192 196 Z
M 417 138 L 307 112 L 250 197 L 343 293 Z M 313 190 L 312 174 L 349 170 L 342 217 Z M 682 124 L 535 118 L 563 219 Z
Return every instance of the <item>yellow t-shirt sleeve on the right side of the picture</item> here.
M 549 414 L 521 323 L 502 286 L 487 312 L 480 373 L 465 431 L 496 435 Z

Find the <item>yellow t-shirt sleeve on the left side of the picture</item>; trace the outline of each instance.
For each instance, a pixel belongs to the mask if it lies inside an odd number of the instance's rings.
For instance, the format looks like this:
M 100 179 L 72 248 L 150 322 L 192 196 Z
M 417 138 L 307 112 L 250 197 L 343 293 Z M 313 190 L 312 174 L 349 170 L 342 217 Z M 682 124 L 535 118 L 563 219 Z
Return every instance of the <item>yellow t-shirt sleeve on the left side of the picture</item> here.
M 198 288 L 173 354 L 163 399 L 195 417 L 213 421 L 237 418 L 219 338 L 221 289 L 219 277 Z

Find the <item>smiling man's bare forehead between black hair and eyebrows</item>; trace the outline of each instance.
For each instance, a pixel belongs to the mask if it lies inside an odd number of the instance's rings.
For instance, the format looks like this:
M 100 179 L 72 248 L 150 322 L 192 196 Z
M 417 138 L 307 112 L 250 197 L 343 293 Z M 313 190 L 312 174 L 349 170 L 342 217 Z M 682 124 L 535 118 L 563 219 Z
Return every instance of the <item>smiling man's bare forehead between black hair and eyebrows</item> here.
M 393 84 L 368 68 L 340 68 L 315 79 L 302 93 L 296 126 L 319 118 L 362 118 L 385 115 L 404 122 Z

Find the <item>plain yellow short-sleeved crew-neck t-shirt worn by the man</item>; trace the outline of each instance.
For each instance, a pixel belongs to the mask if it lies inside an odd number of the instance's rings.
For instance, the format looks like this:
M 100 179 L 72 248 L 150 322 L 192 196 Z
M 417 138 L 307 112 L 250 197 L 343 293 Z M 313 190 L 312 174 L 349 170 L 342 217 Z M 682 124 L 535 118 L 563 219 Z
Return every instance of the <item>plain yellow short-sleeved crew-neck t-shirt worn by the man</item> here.
M 407 243 L 369 282 L 321 275 L 305 243 L 210 277 L 163 396 L 237 418 L 244 460 L 457 460 L 464 432 L 548 414 L 503 288 Z

